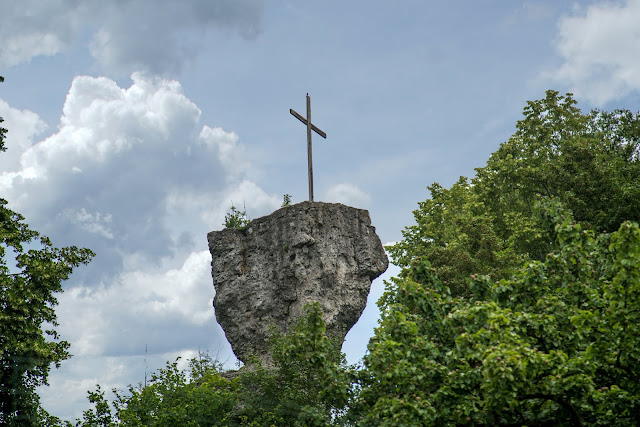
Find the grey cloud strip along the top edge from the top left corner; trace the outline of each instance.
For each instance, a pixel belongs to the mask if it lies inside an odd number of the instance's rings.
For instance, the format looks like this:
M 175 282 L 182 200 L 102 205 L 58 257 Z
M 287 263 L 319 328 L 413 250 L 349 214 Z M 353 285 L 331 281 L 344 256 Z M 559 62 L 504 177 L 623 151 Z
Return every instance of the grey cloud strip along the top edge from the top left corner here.
M 10 1 L 0 17 L 0 66 L 64 52 L 88 33 L 91 54 L 109 70 L 176 71 L 212 28 L 256 37 L 263 9 L 263 0 Z

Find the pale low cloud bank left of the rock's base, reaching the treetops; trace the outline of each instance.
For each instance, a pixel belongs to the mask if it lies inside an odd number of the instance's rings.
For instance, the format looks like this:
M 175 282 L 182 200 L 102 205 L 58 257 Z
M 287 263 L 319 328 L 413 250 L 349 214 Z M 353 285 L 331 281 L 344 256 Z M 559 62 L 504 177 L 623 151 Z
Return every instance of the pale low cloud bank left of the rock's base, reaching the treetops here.
M 176 269 L 127 271 L 111 286 L 68 289 L 56 312 L 73 357 L 39 388 L 44 407 L 63 419 L 80 417 L 96 384 L 124 391 L 177 357 L 184 368 L 199 351 L 235 366 L 214 319 L 210 271 L 208 251 L 193 252 Z

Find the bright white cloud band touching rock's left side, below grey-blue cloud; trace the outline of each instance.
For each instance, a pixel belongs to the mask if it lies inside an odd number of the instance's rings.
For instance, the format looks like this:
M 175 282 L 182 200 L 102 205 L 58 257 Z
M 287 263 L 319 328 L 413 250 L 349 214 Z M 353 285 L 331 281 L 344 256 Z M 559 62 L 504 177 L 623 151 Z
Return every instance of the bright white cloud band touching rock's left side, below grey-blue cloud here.
M 213 295 L 211 255 L 193 252 L 178 269 L 125 271 L 108 286 L 68 289 L 59 297 L 60 333 L 78 356 L 187 348 L 200 328 L 213 333 Z

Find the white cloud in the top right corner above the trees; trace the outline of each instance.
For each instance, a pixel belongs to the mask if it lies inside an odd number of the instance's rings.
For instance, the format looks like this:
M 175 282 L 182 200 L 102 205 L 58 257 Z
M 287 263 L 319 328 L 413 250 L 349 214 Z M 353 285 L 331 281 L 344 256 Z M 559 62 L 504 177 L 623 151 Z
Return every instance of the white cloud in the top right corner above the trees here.
M 544 77 L 603 105 L 640 90 L 640 0 L 596 3 L 559 21 L 563 63 Z

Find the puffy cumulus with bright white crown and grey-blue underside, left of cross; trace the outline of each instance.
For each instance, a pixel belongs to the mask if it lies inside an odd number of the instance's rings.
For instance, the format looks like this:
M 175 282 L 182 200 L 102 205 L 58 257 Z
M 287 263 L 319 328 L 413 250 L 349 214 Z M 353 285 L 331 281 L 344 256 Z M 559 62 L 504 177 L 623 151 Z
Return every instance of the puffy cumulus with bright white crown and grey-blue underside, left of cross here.
M 23 142 L 0 170 L 0 191 L 54 242 L 97 252 L 83 280 L 202 250 L 231 202 L 252 217 L 279 206 L 246 178 L 238 136 L 201 125 L 178 82 L 132 78 L 120 88 L 76 77 L 58 131 L 36 144 L 37 115 L 4 108 L 9 133 Z

